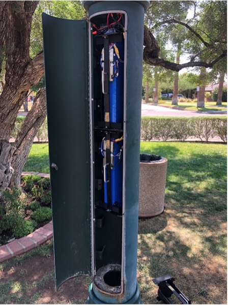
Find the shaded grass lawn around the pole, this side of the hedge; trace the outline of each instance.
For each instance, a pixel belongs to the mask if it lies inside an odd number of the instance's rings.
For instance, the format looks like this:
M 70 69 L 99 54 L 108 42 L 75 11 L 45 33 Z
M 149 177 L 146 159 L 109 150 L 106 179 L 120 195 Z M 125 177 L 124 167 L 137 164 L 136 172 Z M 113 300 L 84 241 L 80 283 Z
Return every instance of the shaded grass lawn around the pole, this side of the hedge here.
M 226 303 L 226 145 L 141 142 L 168 159 L 165 212 L 139 220 L 138 282 L 158 303 L 152 279 L 166 273 L 192 303 Z M 48 172 L 47 144 L 34 144 L 24 170 Z M 2 274 L 1 274 L 2 273 Z M 89 278 L 54 292 L 52 243 L 0 266 L 0 303 L 81 303 Z

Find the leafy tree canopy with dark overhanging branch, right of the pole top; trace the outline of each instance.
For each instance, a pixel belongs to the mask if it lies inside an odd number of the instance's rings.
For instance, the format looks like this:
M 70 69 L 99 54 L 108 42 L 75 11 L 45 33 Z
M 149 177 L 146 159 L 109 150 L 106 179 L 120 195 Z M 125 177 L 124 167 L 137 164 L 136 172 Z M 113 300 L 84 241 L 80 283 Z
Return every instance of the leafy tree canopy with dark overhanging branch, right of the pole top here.
M 188 67 L 213 68 L 226 60 L 226 1 L 153 1 L 146 16 L 144 35 L 144 60 L 151 66 L 180 71 Z M 187 18 L 192 10 L 193 16 Z M 161 54 L 159 37 L 163 33 L 169 39 L 170 32 L 177 27 L 186 28 L 182 50 L 187 50 L 190 60 L 177 64 Z M 159 31 L 158 31 L 159 29 Z M 223 67 L 224 67 L 223 60 Z

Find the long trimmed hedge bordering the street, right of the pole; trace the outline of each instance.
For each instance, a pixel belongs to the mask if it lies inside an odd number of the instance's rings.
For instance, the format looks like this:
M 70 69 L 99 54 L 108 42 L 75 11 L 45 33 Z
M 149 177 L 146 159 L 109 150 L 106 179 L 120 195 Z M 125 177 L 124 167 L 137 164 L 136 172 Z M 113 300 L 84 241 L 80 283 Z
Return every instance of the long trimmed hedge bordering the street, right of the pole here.
M 151 140 L 179 140 L 188 137 L 200 138 L 208 142 L 210 138 L 220 137 L 227 142 L 226 117 L 153 117 L 141 118 L 141 139 Z

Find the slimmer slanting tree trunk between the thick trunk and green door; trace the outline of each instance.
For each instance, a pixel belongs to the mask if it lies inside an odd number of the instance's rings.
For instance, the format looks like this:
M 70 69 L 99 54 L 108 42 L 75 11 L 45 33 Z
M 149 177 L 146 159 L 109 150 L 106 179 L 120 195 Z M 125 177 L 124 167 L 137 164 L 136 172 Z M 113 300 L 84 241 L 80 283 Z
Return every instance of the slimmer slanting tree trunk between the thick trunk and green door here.
M 13 175 L 10 187 L 20 186 L 21 173 L 27 156 L 33 145 L 34 137 L 46 117 L 45 88 L 41 89 L 33 103 L 32 109 L 24 119 L 23 125 L 14 143 L 15 152 L 12 159 Z

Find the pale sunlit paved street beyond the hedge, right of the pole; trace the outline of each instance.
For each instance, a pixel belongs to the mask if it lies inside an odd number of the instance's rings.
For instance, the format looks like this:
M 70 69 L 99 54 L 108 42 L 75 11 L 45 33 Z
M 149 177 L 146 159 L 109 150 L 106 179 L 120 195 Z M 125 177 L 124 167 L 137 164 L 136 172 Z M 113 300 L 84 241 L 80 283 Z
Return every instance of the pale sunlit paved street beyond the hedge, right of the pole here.
M 188 110 L 178 110 L 172 108 L 166 108 L 161 106 L 154 106 L 148 104 L 141 104 L 141 115 L 142 116 L 208 116 L 208 115 L 224 115 L 226 116 L 227 111 L 188 111 Z

